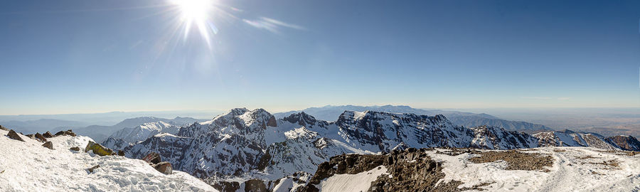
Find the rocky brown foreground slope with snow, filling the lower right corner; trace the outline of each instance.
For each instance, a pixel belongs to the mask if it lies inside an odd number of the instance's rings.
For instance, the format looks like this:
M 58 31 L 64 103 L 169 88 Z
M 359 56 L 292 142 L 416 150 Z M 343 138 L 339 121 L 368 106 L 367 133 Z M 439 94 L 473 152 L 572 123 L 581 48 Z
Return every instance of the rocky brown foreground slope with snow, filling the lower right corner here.
M 590 147 L 346 154 L 321 164 L 306 185 L 274 191 L 639 191 L 638 159 Z

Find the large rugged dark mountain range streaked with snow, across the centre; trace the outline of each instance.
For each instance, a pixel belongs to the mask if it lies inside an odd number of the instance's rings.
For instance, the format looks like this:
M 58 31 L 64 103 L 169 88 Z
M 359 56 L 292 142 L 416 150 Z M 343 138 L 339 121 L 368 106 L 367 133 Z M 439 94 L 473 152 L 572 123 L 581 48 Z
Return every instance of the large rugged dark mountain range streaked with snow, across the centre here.
M 443 115 L 346 111 L 327 122 L 306 112 L 276 119 L 262 109 L 239 108 L 181 127 L 176 134 L 154 135 L 125 151 L 132 158 L 155 151 L 176 170 L 241 187 L 252 178 L 272 181 L 298 171 L 313 174 L 338 154 L 438 146 L 518 149 L 536 147 L 538 139 L 500 127 L 456 126 Z

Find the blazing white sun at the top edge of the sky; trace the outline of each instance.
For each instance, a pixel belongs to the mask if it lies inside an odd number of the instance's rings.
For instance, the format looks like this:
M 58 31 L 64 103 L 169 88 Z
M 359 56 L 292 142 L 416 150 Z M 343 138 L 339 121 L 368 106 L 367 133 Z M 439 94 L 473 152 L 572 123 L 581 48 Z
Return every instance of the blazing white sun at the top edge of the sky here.
M 184 38 L 187 38 L 191 27 L 198 28 L 201 36 L 209 41 L 210 11 L 213 8 L 211 0 L 171 0 L 180 16 L 180 21 L 184 25 Z M 213 30 L 215 33 L 215 30 Z

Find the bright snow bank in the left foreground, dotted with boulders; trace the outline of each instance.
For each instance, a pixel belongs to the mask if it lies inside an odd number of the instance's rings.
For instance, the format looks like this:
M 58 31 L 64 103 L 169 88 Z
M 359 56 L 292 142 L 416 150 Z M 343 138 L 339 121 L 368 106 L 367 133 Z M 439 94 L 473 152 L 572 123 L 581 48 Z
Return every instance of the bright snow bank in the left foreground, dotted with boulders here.
M 48 139 L 55 150 L 20 135 L 26 142 L 5 137 L 0 130 L 0 191 L 215 191 L 182 171 L 164 175 L 138 159 L 97 156 L 82 151 L 89 137 Z M 92 166 L 100 165 L 90 173 Z

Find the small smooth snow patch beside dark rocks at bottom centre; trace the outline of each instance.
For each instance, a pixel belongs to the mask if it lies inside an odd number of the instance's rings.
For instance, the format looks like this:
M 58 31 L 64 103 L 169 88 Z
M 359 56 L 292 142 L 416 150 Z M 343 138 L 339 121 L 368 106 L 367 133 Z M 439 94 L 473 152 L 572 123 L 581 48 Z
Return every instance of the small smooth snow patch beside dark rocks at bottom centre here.
M 367 191 L 378 176 L 387 174 L 385 166 L 377 166 L 358 174 L 336 174 L 320 182 L 320 191 Z

